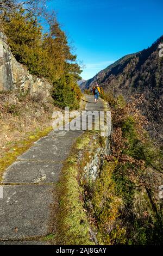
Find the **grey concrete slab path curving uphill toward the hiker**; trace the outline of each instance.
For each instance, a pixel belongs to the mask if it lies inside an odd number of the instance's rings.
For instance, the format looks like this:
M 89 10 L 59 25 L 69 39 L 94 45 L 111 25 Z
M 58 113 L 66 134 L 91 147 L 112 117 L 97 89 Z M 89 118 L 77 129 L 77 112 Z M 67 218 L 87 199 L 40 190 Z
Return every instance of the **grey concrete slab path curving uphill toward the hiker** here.
M 86 96 L 86 110 L 103 110 L 106 103 Z M 47 244 L 54 230 L 55 187 L 62 163 L 84 131 L 51 131 L 17 158 L 4 173 L 0 198 L 0 245 Z M 2 187 L 1 186 L 1 187 Z

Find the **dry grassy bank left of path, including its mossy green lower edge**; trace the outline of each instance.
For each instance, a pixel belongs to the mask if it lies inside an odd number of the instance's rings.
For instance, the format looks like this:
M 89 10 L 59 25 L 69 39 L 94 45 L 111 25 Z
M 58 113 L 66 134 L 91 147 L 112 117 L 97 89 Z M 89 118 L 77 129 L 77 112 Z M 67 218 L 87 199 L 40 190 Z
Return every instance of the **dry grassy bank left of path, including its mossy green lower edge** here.
M 0 180 L 4 170 L 33 142 L 52 130 L 51 98 L 42 95 L 3 92 L 0 94 Z

